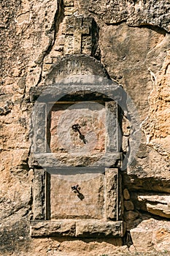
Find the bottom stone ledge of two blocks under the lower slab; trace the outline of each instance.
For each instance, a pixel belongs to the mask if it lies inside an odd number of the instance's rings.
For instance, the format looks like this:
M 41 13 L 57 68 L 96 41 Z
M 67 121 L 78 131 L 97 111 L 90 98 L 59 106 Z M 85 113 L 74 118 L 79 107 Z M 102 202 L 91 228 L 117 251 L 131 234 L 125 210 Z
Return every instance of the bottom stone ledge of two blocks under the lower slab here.
M 82 220 L 57 220 L 57 221 L 31 221 L 31 236 L 75 236 L 75 237 L 123 237 L 125 222 L 123 221 L 82 221 Z

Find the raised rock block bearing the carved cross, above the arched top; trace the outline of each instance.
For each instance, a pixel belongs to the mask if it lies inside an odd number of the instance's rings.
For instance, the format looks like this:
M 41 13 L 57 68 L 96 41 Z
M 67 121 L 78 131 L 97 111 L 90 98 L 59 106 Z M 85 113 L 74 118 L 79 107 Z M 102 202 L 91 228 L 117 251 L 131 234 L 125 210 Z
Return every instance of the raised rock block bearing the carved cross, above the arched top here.
M 87 54 L 97 56 L 98 26 L 93 18 L 82 16 L 66 16 L 61 22 L 58 34 L 50 54 L 45 57 L 43 76 L 50 70 L 52 64 L 63 56 L 71 54 Z

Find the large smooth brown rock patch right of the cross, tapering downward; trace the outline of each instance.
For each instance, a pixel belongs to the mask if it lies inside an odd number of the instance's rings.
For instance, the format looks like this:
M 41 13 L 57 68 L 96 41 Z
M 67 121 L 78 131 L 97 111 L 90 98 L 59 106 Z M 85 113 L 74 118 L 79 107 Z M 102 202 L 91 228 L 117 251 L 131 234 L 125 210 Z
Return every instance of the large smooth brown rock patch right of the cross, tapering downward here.
M 166 57 L 163 49 L 169 45 L 169 42 L 166 41 L 162 33 L 148 31 L 147 28 L 129 28 L 125 23 L 112 26 L 112 28 L 104 26 L 101 34 L 103 34 L 100 41 L 100 48 L 103 53 L 102 62 L 112 78 L 125 84 L 124 88 L 133 98 L 140 113 L 140 120 L 143 121 L 148 114 L 147 99 L 152 90 L 152 80 L 148 68 L 156 73 L 154 65 L 156 63 L 161 69 L 163 59 Z M 167 38 L 167 40 L 169 39 Z M 107 45 L 105 44 L 106 41 L 108 42 Z M 159 41 L 162 42 L 161 45 L 158 44 Z M 141 44 L 143 45 L 142 48 Z M 158 45 L 158 48 L 154 48 L 154 45 Z M 108 48 L 112 48 L 112 57 Z M 147 59 L 145 56 L 148 56 Z M 136 79 L 134 80 L 134 78 Z M 142 80 L 145 84 L 144 90 L 142 90 Z M 142 97 L 141 94 L 136 94 L 134 86 L 140 88 Z

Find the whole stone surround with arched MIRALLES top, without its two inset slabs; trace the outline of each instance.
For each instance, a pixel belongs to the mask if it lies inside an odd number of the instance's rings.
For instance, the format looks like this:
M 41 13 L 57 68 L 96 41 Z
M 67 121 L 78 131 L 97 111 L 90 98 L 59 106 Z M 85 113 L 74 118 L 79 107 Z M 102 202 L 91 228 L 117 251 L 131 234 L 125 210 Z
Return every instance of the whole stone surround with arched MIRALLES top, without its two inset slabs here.
M 61 73 L 60 70 L 67 72 Z M 85 75 L 85 70 L 88 75 Z M 75 95 L 80 102 L 87 99 L 100 101 L 102 98 L 108 107 L 106 133 L 109 143 L 105 146 L 106 152 L 99 157 L 101 159 L 93 165 L 85 165 L 85 162 L 77 162 L 74 165 L 75 159 L 69 165 L 63 165 L 47 146 L 47 118 L 50 109 L 47 106 L 62 100 L 72 101 Z M 31 102 L 35 102 L 30 136 L 30 165 L 34 169 L 31 236 L 123 237 L 125 225 L 121 220 L 123 206 L 119 171 L 122 162 L 122 136 L 118 125 L 121 123 L 122 115 L 120 108 L 125 106 L 125 94 L 121 86 L 108 79 L 106 70 L 95 59 L 90 56 L 73 55 L 63 58 L 53 66 L 44 86 L 31 88 L 30 99 Z M 88 171 L 102 169 L 104 173 L 104 218 L 50 219 L 50 173 L 53 173 L 53 170 L 55 173 L 60 170 L 66 171 L 67 168 L 79 170 L 81 165 L 88 168 Z

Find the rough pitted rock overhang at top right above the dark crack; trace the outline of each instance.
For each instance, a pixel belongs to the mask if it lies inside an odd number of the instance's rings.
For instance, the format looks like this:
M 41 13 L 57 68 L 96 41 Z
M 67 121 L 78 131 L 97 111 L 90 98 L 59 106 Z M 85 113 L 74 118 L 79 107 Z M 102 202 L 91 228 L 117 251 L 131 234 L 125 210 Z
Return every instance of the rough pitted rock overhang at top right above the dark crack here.
M 169 31 L 169 1 L 109 1 L 97 0 L 80 1 L 84 10 L 95 13 L 98 18 L 104 20 L 107 24 L 117 24 L 126 21 L 131 26 L 142 26 L 151 24 L 152 26 L 161 26 Z

